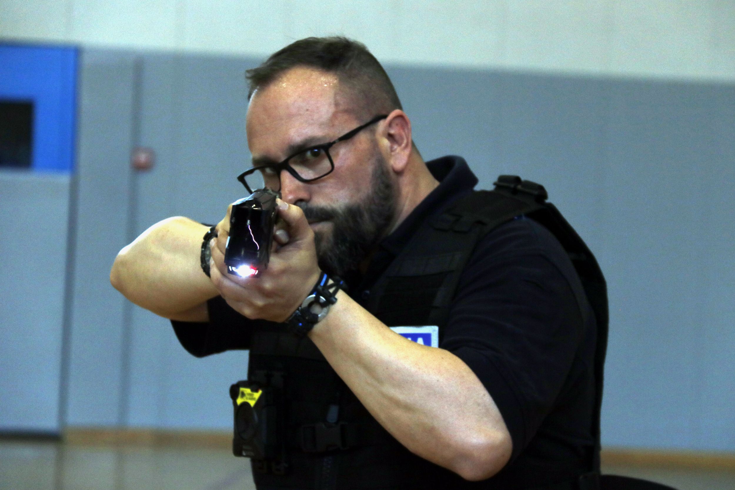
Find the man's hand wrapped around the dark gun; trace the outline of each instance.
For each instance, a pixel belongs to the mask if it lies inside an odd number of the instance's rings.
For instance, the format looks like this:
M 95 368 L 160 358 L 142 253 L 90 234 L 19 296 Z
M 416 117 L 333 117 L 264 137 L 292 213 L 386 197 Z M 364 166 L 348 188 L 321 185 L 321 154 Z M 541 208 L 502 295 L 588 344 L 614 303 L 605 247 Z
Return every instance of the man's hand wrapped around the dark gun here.
M 227 273 L 224 253 L 232 205 L 217 225 L 217 238 L 212 240 L 212 284 L 229 306 L 251 320 L 283 322 L 301 306 L 319 278 L 314 231 L 304 212 L 280 199 L 277 202 L 283 223 L 274 231 L 268 268 L 257 278 Z

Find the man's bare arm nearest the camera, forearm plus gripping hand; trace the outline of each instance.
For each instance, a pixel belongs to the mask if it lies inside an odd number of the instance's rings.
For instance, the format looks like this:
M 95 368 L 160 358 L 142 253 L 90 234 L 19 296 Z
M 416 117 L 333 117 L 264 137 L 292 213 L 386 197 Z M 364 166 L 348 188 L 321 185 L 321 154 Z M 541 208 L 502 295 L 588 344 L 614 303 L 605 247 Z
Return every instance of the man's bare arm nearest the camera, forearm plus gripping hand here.
M 297 206 L 279 206 L 290 241 L 259 278 L 234 278 L 212 249 L 212 282 L 248 318 L 284 321 L 318 278 L 314 236 Z M 467 364 L 448 350 L 395 334 L 344 292 L 309 334 L 337 375 L 412 453 L 468 480 L 490 478 L 512 441 L 500 411 Z

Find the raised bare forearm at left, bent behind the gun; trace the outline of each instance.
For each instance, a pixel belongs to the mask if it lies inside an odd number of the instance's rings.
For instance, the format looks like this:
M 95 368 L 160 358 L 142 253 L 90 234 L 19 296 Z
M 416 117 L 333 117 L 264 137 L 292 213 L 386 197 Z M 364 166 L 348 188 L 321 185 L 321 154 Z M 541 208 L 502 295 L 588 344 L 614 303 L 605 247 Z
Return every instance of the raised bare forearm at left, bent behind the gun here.
M 206 231 L 185 217 L 156 223 L 118 253 L 110 282 L 133 303 L 162 317 L 207 320 L 206 301 L 218 291 L 200 266 Z

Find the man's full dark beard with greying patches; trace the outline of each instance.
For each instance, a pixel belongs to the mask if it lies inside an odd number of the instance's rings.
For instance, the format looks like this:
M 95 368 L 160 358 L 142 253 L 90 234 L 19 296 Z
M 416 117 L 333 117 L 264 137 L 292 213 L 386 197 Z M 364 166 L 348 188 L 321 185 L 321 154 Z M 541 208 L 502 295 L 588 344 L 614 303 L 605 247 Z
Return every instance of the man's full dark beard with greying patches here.
M 301 206 L 307 220 L 329 220 L 331 234 L 315 231 L 319 266 L 344 277 L 357 270 L 385 236 L 395 216 L 395 184 L 381 155 L 373 159 L 371 189 L 361 201 L 344 206 Z

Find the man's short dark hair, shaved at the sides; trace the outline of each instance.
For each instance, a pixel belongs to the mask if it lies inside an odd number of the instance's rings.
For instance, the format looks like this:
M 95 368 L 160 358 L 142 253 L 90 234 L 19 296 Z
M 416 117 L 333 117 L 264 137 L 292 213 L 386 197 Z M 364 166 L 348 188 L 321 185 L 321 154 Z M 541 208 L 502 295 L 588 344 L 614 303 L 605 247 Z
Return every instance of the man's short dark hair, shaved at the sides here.
M 291 68 L 304 66 L 334 73 L 356 98 L 363 117 L 403 109 L 387 73 L 364 44 L 347 37 L 306 37 L 271 54 L 257 68 L 245 72 L 250 83 L 248 100 Z

